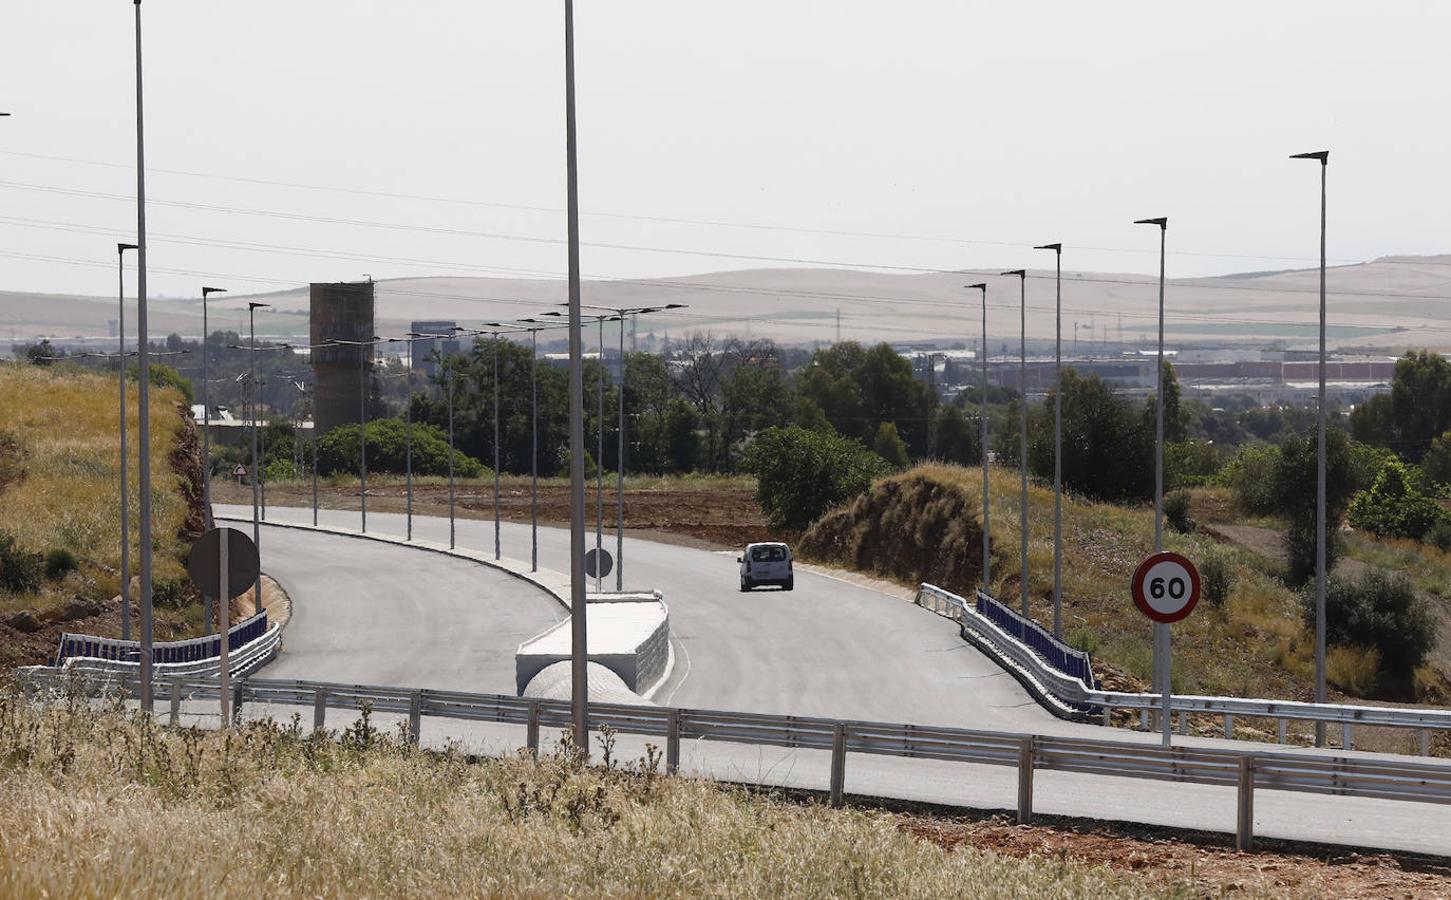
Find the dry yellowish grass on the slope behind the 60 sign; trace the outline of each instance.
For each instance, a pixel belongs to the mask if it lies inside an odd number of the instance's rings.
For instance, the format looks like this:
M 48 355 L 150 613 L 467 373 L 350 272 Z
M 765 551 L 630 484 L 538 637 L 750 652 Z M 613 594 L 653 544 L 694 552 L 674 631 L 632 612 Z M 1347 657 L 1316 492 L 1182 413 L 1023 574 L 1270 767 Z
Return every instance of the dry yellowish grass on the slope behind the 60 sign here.
M 918 466 L 885 479 L 895 482 L 907 498 L 937 494 L 949 486 L 963 498 L 963 508 L 981 527 L 981 469 Z M 874 492 L 879 492 L 879 483 Z M 1016 470 L 994 469 L 990 483 L 992 525 L 992 591 L 1017 607 L 1020 591 L 1020 486 Z M 868 496 L 869 501 L 869 496 Z M 940 496 L 936 502 L 940 502 Z M 901 504 L 898 504 L 901 507 Z M 855 515 L 856 531 L 879 530 L 910 539 L 911 517 L 904 521 L 875 521 L 869 502 L 859 501 L 837 515 Z M 869 521 L 871 520 L 871 521 Z M 827 520 L 823 520 L 827 521 Z M 810 543 L 810 534 L 807 537 Z M 974 543 L 977 537 L 974 534 Z M 979 544 L 975 544 L 979 546 Z M 1165 531 L 1164 546 L 1190 559 L 1203 559 L 1210 547 L 1226 553 L 1236 579 L 1223 608 L 1200 602 L 1183 623 L 1174 626 L 1174 687 L 1188 694 L 1235 694 L 1257 697 L 1309 695 L 1313 676 L 1312 640 L 1306 634 L 1296 598 L 1264 568 L 1262 560 L 1242 550 L 1226 549 L 1201 534 Z M 1154 510 L 1100 504 L 1078 496 L 1064 498 L 1064 634 L 1094 652 L 1130 682 L 1143 685 L 1151 676 L 1152 630 L 1133 608 L 1129 579 L 1154 549 Z M 945 549 L 942 549 L 945 550 Z M 939 547 L 933 547 L 933 553 Z M 981 550 L 965 557 L 971 562 Z M 881 559 L 891 559 L 882 555 Z M 907 572 L 875 569 L 876 575 L 910 582 Z M 962 569 L 958 584 L 943 586 L 958 592 L 977 588 L 978 566 Z M 1029 601 L 1033 617 L 1052 623 L 1053 584 L 1053 492 L 1029 483 Z

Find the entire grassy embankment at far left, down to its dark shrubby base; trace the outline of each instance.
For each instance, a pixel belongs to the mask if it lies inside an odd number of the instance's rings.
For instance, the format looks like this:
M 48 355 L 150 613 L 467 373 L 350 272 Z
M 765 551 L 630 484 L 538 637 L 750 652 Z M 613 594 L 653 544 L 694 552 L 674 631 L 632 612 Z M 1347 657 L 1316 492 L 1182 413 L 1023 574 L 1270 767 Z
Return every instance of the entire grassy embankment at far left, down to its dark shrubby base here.
M 132 597 L 139 566 L 138 398 L 129 386 Z M 68 550 L 78 566 L 36 591 L 0 589 L 0 668 L 39 662 L 64 629 L 120 634 L 120 460 L 110 377 L 62 367 L 0 366 L 0 533 L 29 555 Z M 199 633 L 184 555 L 200 533 L 197 435 L 173 389 L 151 392 L 157 639 Z M 75 602 L 77 600 L 84 602 Z M 65 618 L 71 608 L 71 621 Z M 39 630 L 12 627 L 28 611 Z M 89 615 L 81 615 L 90 611 Z M 133 611 L 135 615 L 135 611 Z M 33 626 L 33 621 L 28 624 Z

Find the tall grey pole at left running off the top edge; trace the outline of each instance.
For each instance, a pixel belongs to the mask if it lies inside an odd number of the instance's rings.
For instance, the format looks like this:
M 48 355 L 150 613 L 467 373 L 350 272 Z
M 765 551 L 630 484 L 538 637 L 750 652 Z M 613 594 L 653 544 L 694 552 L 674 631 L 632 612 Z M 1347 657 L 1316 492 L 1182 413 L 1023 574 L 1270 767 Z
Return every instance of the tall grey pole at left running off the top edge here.
M 147 359 L 147 139 L 142 107 L 141 0 L 136 9 L 136 393 L 141 415 L 141 711 L 151 714 L 151 363 Z

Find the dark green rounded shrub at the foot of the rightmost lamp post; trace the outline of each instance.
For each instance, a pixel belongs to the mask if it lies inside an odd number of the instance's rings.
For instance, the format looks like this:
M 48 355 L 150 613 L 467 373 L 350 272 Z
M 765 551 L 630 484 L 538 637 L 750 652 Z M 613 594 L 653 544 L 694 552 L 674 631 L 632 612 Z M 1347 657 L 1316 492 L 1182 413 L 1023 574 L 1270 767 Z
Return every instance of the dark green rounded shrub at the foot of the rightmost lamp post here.
M 1315 627 L 1315 591 L 1300 595 L 1307 627 Z M 1360 578 L 1332 576 L 1325 591 L 1328 643 L 1380 653 L 1381 671 L 1406 682 L 1436 642 L 1435 623 L 1410 579 L 1370 569 Z

